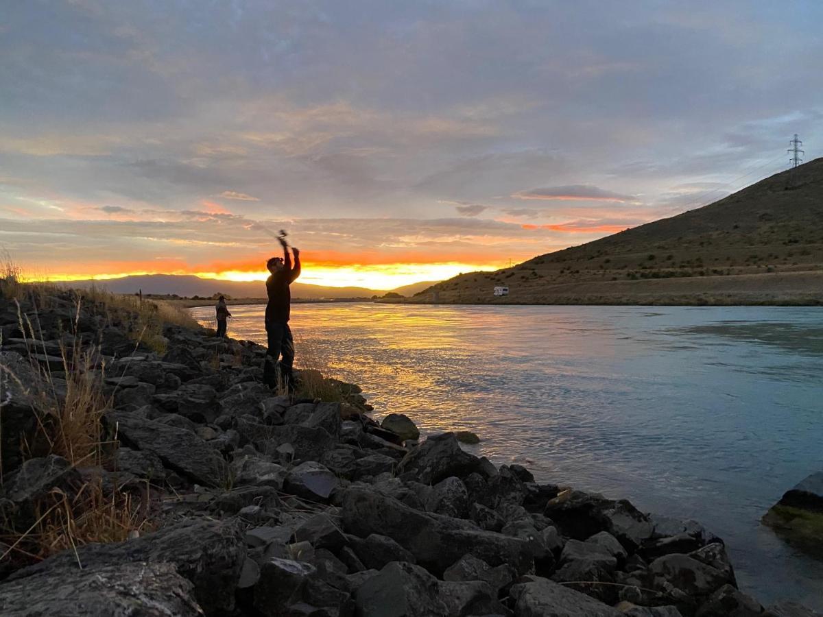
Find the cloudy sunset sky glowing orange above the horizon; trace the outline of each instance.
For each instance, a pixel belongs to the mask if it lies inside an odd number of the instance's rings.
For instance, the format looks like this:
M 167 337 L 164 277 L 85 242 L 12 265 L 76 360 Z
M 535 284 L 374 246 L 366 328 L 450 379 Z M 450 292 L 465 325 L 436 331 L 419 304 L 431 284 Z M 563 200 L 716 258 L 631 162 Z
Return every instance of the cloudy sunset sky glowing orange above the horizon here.
M 0 248 L 35 276 L 388 289 L 823 151 L 823 2 L 0 0 Z

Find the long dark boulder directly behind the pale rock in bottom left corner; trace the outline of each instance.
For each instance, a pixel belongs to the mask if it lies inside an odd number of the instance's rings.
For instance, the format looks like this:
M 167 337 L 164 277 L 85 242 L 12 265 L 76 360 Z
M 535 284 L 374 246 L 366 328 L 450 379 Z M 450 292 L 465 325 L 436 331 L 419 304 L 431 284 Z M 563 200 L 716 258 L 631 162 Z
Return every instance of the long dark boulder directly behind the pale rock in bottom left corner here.
M 125 542 L 65 550 L 12 574 L 9 581 L 35 585 L 43 580 L 40 577 L 76 572 L 78 561 L 90 574 L 126 564 L 167 562 L 193 584 L 194 596 L 206 615 L 221 615 L 235 607 L 235 587 L 245 557 L 243 536 L 236 522 L 187 520 Z

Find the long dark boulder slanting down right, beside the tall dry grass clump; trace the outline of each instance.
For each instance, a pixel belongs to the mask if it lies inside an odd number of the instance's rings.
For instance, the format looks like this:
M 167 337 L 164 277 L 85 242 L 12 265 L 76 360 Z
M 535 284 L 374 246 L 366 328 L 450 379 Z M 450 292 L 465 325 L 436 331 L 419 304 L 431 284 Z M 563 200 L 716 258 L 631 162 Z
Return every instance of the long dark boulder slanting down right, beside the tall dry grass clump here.
M 163 465 L 194 482 L 221 486 L 228 482 L 226 462 L 214 448 L 191 431 L 112 411 L 106 421 L 118 438 L 133 448 L 154 452 Z

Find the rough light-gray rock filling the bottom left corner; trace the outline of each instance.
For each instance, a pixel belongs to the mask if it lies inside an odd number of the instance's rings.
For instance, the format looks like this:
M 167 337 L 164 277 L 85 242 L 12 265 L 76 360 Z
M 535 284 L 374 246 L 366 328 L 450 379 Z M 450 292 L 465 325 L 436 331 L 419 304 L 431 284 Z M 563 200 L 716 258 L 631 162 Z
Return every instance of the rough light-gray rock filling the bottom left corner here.
M 48 592 L 43 592 L 48 590 Z M 0 614 L 61 617 L 196 617 L 193 585 L 174 564 L 59 568 L 0 584 Z M 137 612 L 136 612 L 137 611 Z

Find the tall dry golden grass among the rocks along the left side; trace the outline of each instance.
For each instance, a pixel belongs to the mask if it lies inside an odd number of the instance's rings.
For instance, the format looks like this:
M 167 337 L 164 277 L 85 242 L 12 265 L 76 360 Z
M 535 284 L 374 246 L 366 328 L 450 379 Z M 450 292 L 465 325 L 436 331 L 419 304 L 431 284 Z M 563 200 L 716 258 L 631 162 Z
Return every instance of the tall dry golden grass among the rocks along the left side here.
M 19 273 L 13 264 L 2 267 L 5 274 L 10 271 Z M 19 325 L 28 343 L 29 360 L 36 376 L 34 383 L 23 384 L 40 408 L 39 412 L 32 412 L 37 414 L 35 434 L 21 443 L 23 456 L 56 454 L 72 466 L 104 466 L 117 445 L 116 440 L 106 440 L 102 425 L 105 411 L 112 406 L 112 398 L 103 394 L 105 365 L 101 362 L 100 350 L 81 344 L 82 337 L 77 328 L 81 311 L 86 309 L 99 314 L 102 310 L 113 321 L 115 318 L 123 322 L 130 320 L 134 325 L 133 332 L 137 332 L 137 341 L 146 332 L 150 336 L 155 332 L 161 334 L 165 323 L 190 326 L 193 320 L 173 307 L 141 306 L 139 301 L 128 297 L 97 290 L 78 291 L 72 311 L 75 318 L 70 334 L 73 336 L 61 339 L 74 342 L 60 344 L 62 370 L 55 374 L 48 363 L 40 364 L 35 355 L 46 353 L 41 342 L 44 332 L 40 327 L 40 309 L 49 306 L 50 294 L 57 288 L 21 283 L 16 276 L 4 276 L 0 285 L 4 297 L 20 299 L 17 303 Z M 33 304 L 34 310 L 24 313 L 21 309 L 24 301 Z M 39 348 L 40 345 L 43 347 Z M 3 392 L 0 392 L 2 400 Z M 0 483 L 2 474 L 0 469 Z M 105 490 L 99 476 L 74 487 L 72 494 L 55 488 L 35 504 L 36 521 L 28 529 L 15 528 L 9 521 L 0 522 L 0 540 L 8 547 L 0 560 L 8 558 L 14 564 L 24 565 L 91 542 L 126 540 L 135 532 L 151 529 L 148 498 L 147 483 L 142 499 L 136 499 L 116 487 Z

